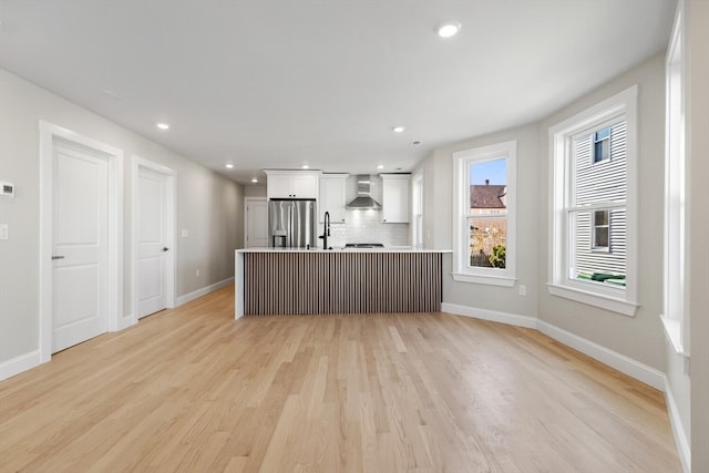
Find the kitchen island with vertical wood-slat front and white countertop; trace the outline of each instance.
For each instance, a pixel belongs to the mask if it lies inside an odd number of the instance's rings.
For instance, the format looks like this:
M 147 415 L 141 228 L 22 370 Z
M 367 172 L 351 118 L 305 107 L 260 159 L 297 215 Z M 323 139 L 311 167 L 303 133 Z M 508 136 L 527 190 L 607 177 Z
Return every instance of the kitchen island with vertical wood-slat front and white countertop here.
M 235 317 L 438 312 L 450 250 L 247 248 L 235 255 Z

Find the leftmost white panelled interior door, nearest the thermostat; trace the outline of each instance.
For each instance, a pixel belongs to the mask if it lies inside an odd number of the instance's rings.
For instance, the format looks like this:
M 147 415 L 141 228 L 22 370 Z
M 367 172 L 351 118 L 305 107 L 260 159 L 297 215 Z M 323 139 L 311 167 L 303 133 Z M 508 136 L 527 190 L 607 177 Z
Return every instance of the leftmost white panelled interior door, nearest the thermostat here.
M 109 164 L 100 152 L 53 148 L 52 352 L 104 333 L 109 288 Z

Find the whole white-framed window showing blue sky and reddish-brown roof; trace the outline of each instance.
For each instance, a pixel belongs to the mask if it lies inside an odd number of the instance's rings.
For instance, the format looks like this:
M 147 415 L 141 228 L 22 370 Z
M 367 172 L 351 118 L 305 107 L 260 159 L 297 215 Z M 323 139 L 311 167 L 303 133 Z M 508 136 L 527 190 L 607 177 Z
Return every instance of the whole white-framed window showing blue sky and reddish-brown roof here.
M 453 153 L 453 278 L 514 285 L 516 142 Z

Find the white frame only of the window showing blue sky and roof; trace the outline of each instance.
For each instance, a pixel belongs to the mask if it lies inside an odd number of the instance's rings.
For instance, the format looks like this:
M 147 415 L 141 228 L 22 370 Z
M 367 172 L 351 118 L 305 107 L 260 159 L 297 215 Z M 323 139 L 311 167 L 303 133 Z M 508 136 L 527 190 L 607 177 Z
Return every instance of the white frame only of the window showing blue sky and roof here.
M 516 281 L 516 195 L 517 195 L 517 142 L 516 140 L 463 150 L 453 153 L 453 280 L 492 286 L 513 287 Z M 470 165 L 476 162 L 506 160 L 507 192 L 505 195 L 505 268 L 470 267 L 467 248 L 470 233 Z M 474 217 L 497 217 L 475 215 Z

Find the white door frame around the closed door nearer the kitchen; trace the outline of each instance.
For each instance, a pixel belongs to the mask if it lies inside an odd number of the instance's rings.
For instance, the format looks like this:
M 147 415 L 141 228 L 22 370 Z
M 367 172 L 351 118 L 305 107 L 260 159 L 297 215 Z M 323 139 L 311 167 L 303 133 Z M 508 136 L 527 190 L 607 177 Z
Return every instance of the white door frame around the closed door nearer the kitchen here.
M 141 167 L 145 167 L 155 173 L 162 174 L 165 177 L 165 184 L 167 192 L 165 198 L 165 244 L 169 251 L 165 256 L 165 306 L 168 309 L 175 307 L 175 259 L 177 254 L 177 172 L 157 164 L 144 157 L 133 155 L 131 165 L 131 184 L 132 184 L 132 230 L 131 230 L 131 250 L 133 257 L 131 258 L 131 325 L 136 323 L 138 320 L 138 288 L 137 288 L 137 274 L 138 274 L 138 174 Z

